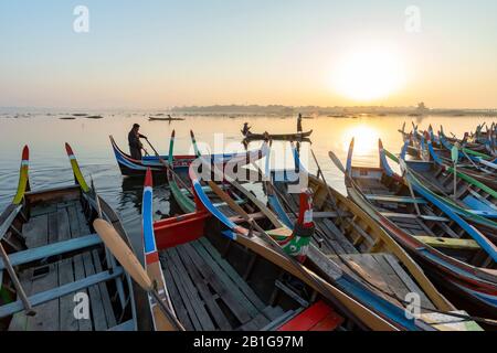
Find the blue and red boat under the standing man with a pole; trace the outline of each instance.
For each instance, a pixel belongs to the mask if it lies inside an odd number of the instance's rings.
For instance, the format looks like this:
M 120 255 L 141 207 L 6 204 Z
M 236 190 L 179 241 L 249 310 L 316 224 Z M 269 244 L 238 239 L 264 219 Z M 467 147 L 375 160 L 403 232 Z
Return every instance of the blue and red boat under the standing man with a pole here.
M 131 156 L 125 153 L 110 136 L 110 145 L 113 147 L 114 156 L 116 157 L 117 164 L 119 165 L 120 173 L 126 176 L 144 176 L 147 168 L 150 168 L 154 174 L 162 174 L 165 165 L 160 160 L 168 161 L 169 156 L 145 156 L 141 160 L 133 159 Z M 257 153 L 258 151 L 248 151 L 247 154 Z M 213 154 L 212 161 L 222 162 L 229 161 L 234 157 L 239 157 L 240 153 L 220 153 Z M 193 154 L 177 154 L 172 167 L 179 173 L 187 173 L 190 163 L 195 160 Z

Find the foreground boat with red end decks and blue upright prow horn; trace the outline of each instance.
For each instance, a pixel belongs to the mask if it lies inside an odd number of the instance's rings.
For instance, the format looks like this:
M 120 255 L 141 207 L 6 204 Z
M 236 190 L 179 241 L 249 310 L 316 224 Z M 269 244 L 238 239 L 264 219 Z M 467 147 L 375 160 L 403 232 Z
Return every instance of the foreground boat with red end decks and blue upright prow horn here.
M 146 254 L 150 266 L 156 267 L 154 278 L 163 284 L 159 288 L 165 293 L 165 302 L 170 302 L 171 310 L 186 330 L 357 329 L 311 286 L 299 280 L 302 274 L 292 261 L 256 238 L 236 237 L 211 223 L 200 229 L 200 237 L 190 239 L 189 228 L 183 227 L 182 220 L 172 217 L 166 220 L 177 238 L 177 243 L 171 244 L 170 233 L 165 233 L 163 228 L 155 232 L 157 227 L 151 228 L 150 222 L 146 221 L 152 217 L 150 186 L 151 178 L 147 176 L 144 236 L 154 236 L 157 250 L 152 247 Z M 202 204 L 198 206 L 202 207 Z M 157 270 L 159 263 L 160 271 Z M 156 319 L 158 321 L 160 317 Z M 172 325 L 171 321 L 165 322 L 166 328 Z

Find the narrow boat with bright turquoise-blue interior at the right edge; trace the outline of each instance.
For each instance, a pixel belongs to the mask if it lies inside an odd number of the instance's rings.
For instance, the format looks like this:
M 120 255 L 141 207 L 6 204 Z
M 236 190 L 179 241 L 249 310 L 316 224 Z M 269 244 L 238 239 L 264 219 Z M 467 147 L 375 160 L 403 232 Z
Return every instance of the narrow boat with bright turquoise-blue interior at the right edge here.
M 497 193 L 477 180 L 456 171 L 457 184 L 454 197 L 452 170 L 441 170 L 434 162 L 408 160 L 405 157 L 408 143 L 404 143 L 400 153 L 400 160 L 403 161 L 401 170 L 410 173 L 410 181 L 405 184 L 411 182 L 423 189 L 495 242 L 497 239 L 495 235 L 497 233 L 497 206 L 495 205 Z M 380 151 L 395 163 L 400 163 L 399 158 L 382 148 L 381 141 Z M 392 170 L 389 172 L 392 175 L 395 174 Z M 395 178 L 402 179 L 400 175 Z

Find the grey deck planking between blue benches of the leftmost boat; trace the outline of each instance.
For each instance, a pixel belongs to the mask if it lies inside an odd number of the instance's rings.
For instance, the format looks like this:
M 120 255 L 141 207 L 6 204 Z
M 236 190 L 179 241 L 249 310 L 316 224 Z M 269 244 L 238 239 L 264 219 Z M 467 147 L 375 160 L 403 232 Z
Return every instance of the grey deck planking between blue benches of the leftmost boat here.
M 91 234 L 80 201 L 65 201 L 51 205 L 36 205 L 32 216 L 23 225 L 22 234 L 29 249 L 68 240 Z M 30 267 L 18 271 L 28 297 L 59 286 L 74 282 L 103 270 L 102 256 L 96 249 L 57 261 Z M 49 260 L 49 259 L 46 259 Z M 36 314 L 13 314 L 9 330 L 14 331 L 88 331 L 107 330 L 116 325 L 116 315 L 110 302 L 107 285 L 101 282 L 87 290 L 89 295 L 89 319 L 74 317 L 74 295 L 70 293 L 34 307 Z

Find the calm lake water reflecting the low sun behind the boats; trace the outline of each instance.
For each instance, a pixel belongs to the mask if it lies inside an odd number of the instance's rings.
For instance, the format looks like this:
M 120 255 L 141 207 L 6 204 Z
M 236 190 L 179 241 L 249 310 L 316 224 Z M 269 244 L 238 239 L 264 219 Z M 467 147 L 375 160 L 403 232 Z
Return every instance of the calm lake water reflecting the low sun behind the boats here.
M 113 135 L 117 143 L 127 151 L 127 132 L 134 122 L 141 125 L 140 132 L 146 135 L 155 147 L 167 153 L 169 137 L 176 129 L 176 153 L 192 153 L 190 129 L 193 129 L 199 142 L 208 143 L 215 152 L 243 151 L 240 129 L 244 121 L 250 121 L 252 131 L 268 130 L 274 133 L 293 132 L 296 120 L 292 118 L 225 118 L 225 117 L 186 117 L 184 121 L 148 121 L 149 114 L 113 113 L 103 115 L 101 120 L 77 118 L 76 120 L 60 120 L 56 115 L 31 115 L 29 117 L 7 118 L 0 116 L 0 208 L 11 201 L 17 183 L 21 149 L 30 147 L 30 182 L 33 190 L 53 188 L 73 183 L 73 175 L 64 149 L 64 142 L 70 142 L 74 149 L 83 173 L 89 181 L 93 178 L 98 192 L 117 210 L 125 226 L 134 239 L 140 243 L 140 207 L 141 181 L 123 178 L 110 148 L 108 139 Z M 404 121 L 411 127 L 410 117 L 359 117 L 357 119 L 336 119 L 318 117 L 304 120 L 304 129 L 313 129 L 313 149 L 326 174 L 327 181 L 334 188 L 345 192 L 343 179 L 328 158 L 328 151 L 334 150 L 345 161 L 348 145 L 356 137 L 355 162 L 357 164 L 378 164 L 378 139 L 390 151 L 398 153 L 402 138 L 398 129 Z M 477 117 L 425 117 L 416 124 L 420 129 L 429 124 L 438 129 L 443 125 L 446 133 L 452 131 L 462 136 L 464 131 L 474 130 L 476 125 L 485 119 Z M 491 119 L 487 120 L 488 122 Z M 222 136 L 216 133 L 222 132 Z M 307 145 L 307 143 L 305 143 Z M 256 148 L 254 142 L 250 148 Z M 276 143 L 275 149 L 285 150 L 286 158 L 276 158 L 277 168 L 292 165 L 289 148 Z M 305 164 L 315 171 L 314 162 L 306 162 L 308 146 L 303 146 Z M 201 148 L 207 151 L 207 148 Z M 283 154 L 278 154 L 283 156 Z M 157 217 L 169 214 L 169 191 L 165 185 L 155 188 L 155 210 Z

